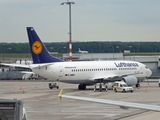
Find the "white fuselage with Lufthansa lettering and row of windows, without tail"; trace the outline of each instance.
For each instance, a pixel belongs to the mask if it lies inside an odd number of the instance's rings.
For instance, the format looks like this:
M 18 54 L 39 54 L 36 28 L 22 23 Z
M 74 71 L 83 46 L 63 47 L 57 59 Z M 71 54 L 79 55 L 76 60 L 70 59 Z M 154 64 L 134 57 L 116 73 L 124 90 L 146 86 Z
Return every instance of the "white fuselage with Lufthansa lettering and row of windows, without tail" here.
M 151 75 L 151 71 L 144 64 L 135 61 L 54 62 L 47 67 L 42 66 L 32 70 L 52 80 L 86 85 L 95 84 L 94 80 L 99 78 L 109 80 L 110 76 L 134 74 L 141 81 Z

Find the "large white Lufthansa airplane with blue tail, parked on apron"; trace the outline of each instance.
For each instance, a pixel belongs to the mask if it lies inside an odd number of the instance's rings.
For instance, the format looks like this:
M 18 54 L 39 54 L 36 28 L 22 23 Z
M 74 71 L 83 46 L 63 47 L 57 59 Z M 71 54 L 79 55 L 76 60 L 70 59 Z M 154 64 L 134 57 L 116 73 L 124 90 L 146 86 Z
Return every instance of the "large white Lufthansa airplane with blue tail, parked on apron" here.
M 30 68 L 35 74 L 51 80 L 79 84 L 78 89 L 80 90 L 85 90 L 88 85 L 120 80 L 129 86 L 136 85 L 138 87 L 141 81 L 152 74 L 146 65 L 136 61 L 65 62 L 50 55 L 33 27 L 27 27 L 27 33 L 33 64 L 1 64 Z

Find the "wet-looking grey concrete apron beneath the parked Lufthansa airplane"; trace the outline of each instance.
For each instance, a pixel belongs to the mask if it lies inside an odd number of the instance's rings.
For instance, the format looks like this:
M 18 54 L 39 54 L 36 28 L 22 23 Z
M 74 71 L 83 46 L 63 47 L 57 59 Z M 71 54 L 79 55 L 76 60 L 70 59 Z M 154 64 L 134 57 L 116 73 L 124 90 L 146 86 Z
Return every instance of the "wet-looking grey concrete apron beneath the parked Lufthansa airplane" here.
M 150 80 L 152 81 L 152 80 Z M 153 80 L 155 81 L 155 80 Z M 23 101 L 27 120 L 159 120 L 160 113 L 142 109 L 121 109 L 118 106 L 63 98 L 60 89 L 49 89 L 48 81 L 0 81 L 0 98 Z M 160 87 L 157 82 L 143 82 L 134 92 L 115 93 L 96 91 L 94 86 L 78 90 L 76 84 L 59 83 L 65 95 L 109 99 L 160 105 Z

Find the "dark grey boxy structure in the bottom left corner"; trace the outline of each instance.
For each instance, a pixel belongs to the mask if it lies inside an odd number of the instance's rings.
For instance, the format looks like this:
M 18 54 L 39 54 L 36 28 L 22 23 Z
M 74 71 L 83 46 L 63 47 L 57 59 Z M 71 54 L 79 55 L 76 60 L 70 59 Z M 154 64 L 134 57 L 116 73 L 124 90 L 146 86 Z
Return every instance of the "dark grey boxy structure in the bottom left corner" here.
M 0 99 L 0 120 L 27 120 L 22 101 Z

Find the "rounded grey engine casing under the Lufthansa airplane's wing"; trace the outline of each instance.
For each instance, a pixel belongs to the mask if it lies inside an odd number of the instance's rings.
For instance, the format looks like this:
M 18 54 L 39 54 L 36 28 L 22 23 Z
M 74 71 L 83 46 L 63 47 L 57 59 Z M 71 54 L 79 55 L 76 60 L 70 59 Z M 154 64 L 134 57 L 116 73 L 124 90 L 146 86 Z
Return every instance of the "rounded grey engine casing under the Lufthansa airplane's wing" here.
M 137 78 L 133 75 L 124 77 L 123 80 L 128 86 L 136 85 L 138 83 Z

